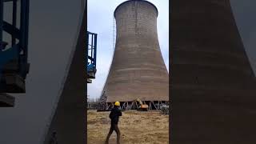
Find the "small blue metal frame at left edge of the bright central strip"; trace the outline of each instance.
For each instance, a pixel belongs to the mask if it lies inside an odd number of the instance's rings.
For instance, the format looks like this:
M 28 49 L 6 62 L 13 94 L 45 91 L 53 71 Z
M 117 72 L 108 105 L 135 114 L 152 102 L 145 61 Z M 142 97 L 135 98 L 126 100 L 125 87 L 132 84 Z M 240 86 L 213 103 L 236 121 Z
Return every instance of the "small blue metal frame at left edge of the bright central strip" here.
M 87 83 L 91 83 L 90 78 L 95 78 L 96 55 L 97 55 L 97 34 L 87 31 Z

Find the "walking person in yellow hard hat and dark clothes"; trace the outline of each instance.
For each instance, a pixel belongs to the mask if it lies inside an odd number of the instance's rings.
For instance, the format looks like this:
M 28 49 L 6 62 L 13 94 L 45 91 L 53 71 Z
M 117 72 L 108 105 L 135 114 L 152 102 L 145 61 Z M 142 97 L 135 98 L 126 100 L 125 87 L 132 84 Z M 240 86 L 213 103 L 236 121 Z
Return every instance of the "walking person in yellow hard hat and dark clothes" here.
M 117 133 L 117 143 L 120 144 L 120 130 L 118 129 L 119 116 L 122 116 L 121 110 L 119 110 L 120 102 L 114 102 L 114 108 L 110 112 L 111 126 L 110 132 L 106 137 L 106 144 L 109 143 L 110 135 L 115 131 Z

